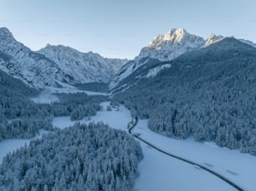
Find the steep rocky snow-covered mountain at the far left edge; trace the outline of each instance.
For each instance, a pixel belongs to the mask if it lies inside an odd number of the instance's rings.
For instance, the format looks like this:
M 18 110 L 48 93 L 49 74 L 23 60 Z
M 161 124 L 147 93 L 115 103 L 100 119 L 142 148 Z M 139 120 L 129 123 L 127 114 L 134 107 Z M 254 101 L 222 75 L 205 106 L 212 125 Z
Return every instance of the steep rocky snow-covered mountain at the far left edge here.
M 9 57 L 6 62 L 1 63 L 0 69 L 31 86 L 57 86 L 58 83 L 69 80 L 52 60 L 34 53 L 23 43 L 16 41 L 8 28 L 0 28 L 0 51 Z

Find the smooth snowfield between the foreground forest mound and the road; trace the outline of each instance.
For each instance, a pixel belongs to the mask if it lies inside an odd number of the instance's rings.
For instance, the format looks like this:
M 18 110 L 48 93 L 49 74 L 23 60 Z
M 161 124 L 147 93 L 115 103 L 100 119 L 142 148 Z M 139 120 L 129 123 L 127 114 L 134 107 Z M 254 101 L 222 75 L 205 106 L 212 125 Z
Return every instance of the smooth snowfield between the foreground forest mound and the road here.
M 136 180 L 139 191 L 235 191 L 222 180 L 141 143 L 144 159 Z

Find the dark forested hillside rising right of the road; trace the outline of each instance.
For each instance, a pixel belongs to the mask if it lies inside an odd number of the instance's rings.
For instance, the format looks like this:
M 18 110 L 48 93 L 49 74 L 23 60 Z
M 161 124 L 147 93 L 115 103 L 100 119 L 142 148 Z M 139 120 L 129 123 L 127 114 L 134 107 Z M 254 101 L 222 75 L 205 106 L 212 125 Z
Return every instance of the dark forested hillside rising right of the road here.
M 166 63 L 115 98 L 157 133 L 256 155 L 256 48 L 224 38 Z

